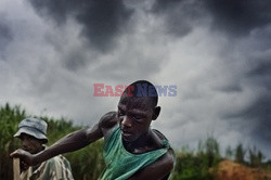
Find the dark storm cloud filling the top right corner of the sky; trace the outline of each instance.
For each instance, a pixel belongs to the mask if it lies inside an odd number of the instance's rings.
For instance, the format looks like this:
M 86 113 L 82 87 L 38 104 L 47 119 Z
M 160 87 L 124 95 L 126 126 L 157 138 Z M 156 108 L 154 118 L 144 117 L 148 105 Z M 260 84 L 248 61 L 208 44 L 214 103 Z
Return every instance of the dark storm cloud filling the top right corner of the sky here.
M 251 29 L 271 22 L 269 0 L 207 0 L 206 9 L 214 18 L 214 28 L 231 35 L 245 36 Z

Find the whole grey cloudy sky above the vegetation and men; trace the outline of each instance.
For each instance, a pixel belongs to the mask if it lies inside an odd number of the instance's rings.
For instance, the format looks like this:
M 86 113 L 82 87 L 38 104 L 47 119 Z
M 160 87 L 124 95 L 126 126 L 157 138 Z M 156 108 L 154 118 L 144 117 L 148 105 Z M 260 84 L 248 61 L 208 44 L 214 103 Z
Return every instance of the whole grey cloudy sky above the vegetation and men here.
M 92 126 L 118 98 L 94 83 L 176 85 L 153 127 L 271 157 L 269 0 L 1 0 L 0 105 Z

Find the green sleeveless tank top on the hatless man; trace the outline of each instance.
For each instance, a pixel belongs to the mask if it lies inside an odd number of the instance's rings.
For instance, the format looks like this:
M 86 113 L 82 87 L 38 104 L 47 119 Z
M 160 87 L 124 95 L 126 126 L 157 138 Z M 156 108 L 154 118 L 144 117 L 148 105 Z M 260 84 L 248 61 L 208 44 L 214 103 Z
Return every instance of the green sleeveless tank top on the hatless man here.
M 132 154 L 125 149 L 120 128 L 117 127 L 104 142 L 105 169 L 99 179 L 126 180 L 139 169 L 157 160 L 168 149 L 168 141 L 163 140 L 163 149 L 142 154 Z

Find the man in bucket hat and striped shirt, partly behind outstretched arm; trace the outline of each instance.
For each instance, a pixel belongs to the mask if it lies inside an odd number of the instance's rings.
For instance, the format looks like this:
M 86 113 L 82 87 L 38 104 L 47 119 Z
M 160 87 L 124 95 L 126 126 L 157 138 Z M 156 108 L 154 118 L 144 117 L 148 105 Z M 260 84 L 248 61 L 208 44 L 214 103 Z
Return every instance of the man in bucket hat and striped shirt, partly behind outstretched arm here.
M 23 119 L 18 125 L 18 131 L 14 134 L 20 138 L 22 149 L 30 154 L 37 154 L 46 150 L 48 142 L 47 123 L 38 118 Z M 68 160 L 62 155 L 50 158 L 41 164 L 28 166 L 21 163 L 22 180 L 73 180 Z

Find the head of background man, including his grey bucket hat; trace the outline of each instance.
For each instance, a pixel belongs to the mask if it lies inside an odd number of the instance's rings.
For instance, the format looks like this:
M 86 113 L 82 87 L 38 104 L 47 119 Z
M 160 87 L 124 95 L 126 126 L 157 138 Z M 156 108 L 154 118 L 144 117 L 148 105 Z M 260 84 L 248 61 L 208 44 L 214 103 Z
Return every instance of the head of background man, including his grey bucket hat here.
M 47 123 L 38 118 L 25 118 L 18 124 L 18 131 L 14 134 L 22 141 L 22 149 L 36 154 L 42 151 L 43 143 L 48 142 Z

